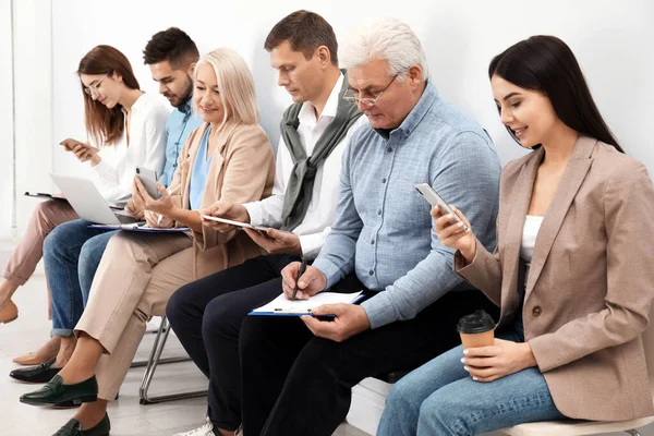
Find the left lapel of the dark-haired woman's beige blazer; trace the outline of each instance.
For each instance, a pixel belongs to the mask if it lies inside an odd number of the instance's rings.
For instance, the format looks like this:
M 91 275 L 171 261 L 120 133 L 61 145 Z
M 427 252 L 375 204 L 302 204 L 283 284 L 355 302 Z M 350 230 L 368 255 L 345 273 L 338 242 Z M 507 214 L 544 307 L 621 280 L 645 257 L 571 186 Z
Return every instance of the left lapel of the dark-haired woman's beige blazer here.
M 516 299 L 517 301 L 520 292 L 518 290 L 518 266 L 520 263 L 520 246 L 522 245 L 522 229 L 524 228 L 524 219 L 531 203 L 536 172 L 543 160 L 544 149 L 541 147 L 532 153 L 531 159 L 522 168 L 520 175 L 516 179 L 516 189 L 511 192 L 513 199 L 510 203 L 512 203 L 513 206 L 511 207 L 509 215 L 505 241 L 502 241 L 506 259 L 504 277 L 508 278 L 509 292 L 505 291 L 501 293 L 501 307 L 516 306 L 510 300 Z

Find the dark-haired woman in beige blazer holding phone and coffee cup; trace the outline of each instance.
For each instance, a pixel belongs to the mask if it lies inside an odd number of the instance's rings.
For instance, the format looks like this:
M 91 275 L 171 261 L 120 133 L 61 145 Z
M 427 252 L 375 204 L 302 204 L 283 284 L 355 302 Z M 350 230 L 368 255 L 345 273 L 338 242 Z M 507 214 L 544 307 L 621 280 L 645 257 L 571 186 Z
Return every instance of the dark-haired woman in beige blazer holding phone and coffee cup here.
M 518 43 L 488 76 L 501 122 L 534 148 L 502 172 L 497 249 L 487 252 L 451 215 L 432 215 L 439 240 L 457 250 L 456 271 L 500 306 L 496 338 L 397 383 L 378 435 L 652 415 L 641 339 L 654 296 L 647 171 L 622 153 L 560 39 Z

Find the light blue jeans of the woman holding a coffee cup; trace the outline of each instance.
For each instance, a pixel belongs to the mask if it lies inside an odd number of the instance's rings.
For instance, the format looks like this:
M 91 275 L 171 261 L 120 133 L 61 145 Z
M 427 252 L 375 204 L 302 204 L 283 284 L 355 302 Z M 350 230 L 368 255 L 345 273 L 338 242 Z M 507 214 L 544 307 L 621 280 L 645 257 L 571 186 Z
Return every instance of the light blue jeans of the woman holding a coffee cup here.
M 524 341 L 520 320 L 497 336 Z M 537 367 L 480 383 L 463 370 L 459 346 L 396 383 L 377 436 L 472 436 L 526 422 L 565 419 Z

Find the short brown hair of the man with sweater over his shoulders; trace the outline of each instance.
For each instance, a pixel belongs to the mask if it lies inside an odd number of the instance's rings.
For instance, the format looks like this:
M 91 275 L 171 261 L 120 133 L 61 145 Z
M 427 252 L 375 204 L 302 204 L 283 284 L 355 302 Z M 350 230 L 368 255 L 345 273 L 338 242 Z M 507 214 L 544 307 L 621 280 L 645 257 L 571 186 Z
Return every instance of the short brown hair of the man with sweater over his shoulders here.
M 318 47 L 325 46 L 331 63 L 338 65 L 338 41 L 334 28 L 315 12 L 301 10 L 283 17 L 268 34 L 264 48 L 272 51 L 284 41 L 289 41 L 291 48 L 302 52 L 307 60 Z

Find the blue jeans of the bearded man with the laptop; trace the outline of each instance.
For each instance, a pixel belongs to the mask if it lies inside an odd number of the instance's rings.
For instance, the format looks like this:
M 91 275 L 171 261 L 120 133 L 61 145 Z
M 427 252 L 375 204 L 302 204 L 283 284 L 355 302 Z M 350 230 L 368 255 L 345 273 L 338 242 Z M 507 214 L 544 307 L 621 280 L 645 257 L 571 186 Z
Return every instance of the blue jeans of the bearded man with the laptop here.
M 71 336 L 88 301 L 93 277 L 114 230 L 89 229 L 83 219 L 57 226 L 44 241 L 52 293 L 52 336 Z

